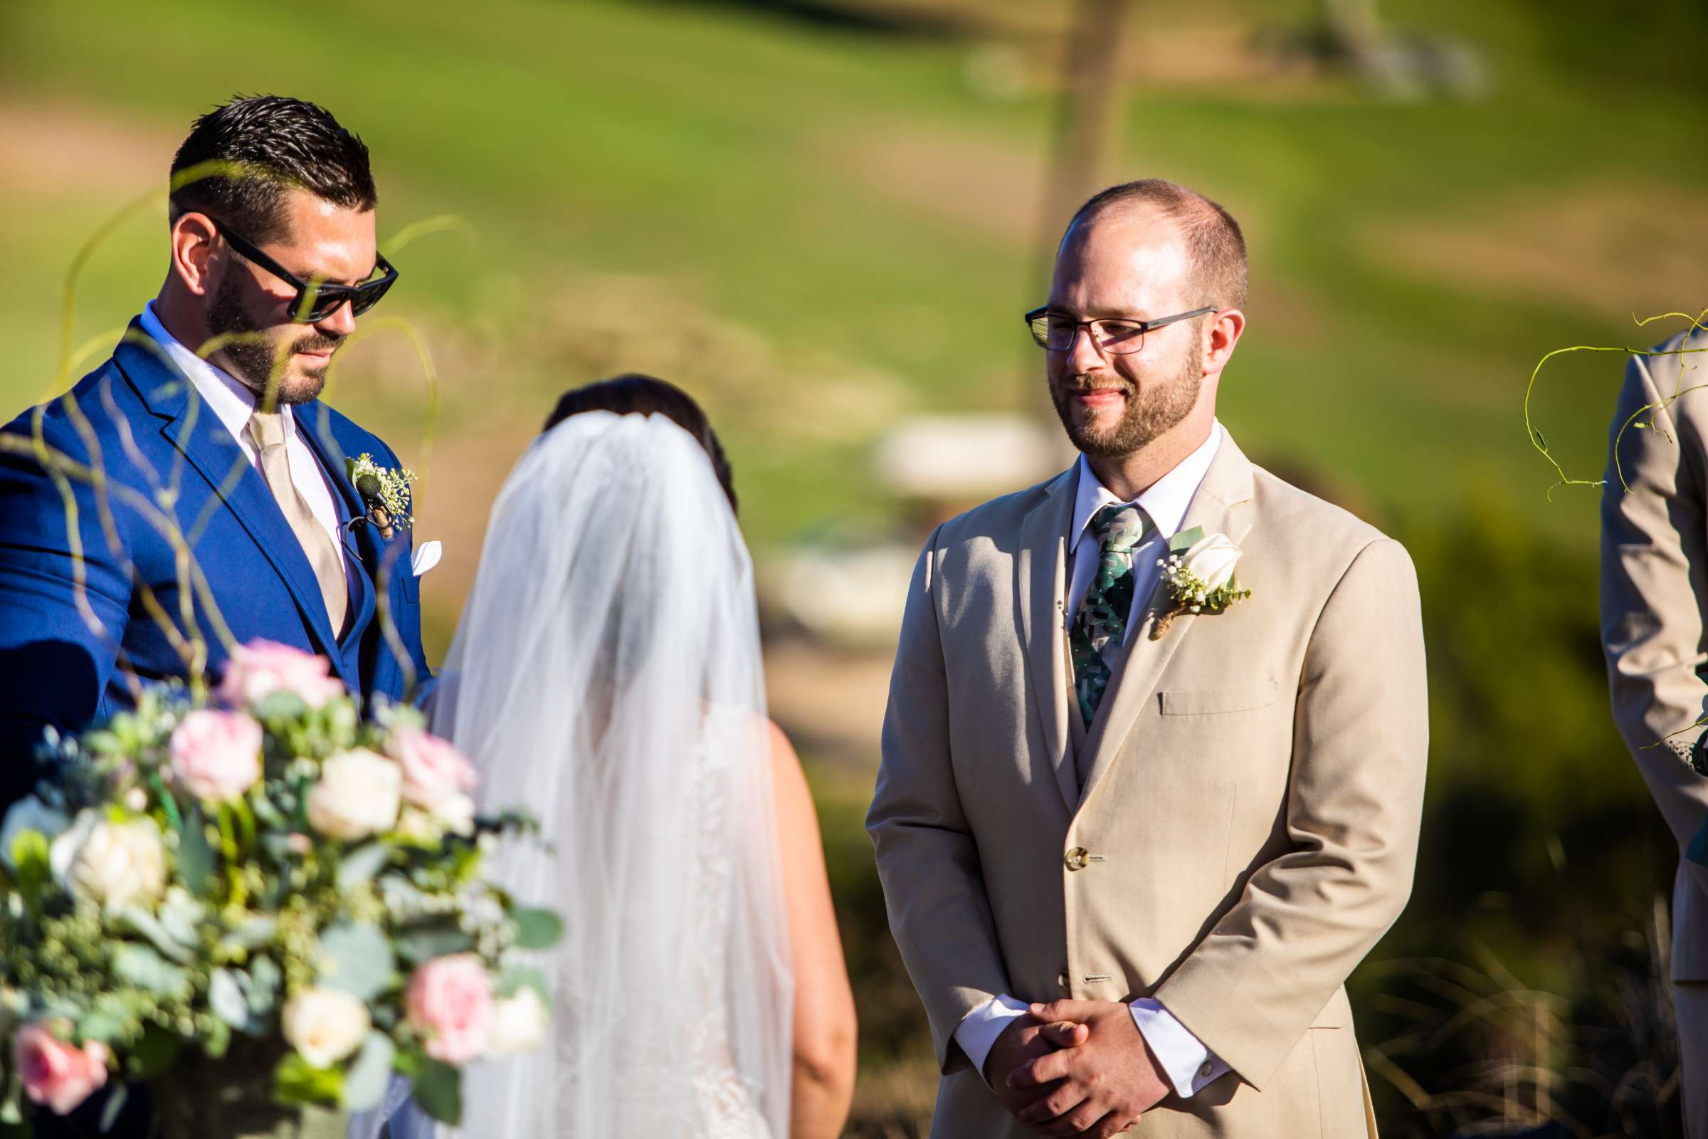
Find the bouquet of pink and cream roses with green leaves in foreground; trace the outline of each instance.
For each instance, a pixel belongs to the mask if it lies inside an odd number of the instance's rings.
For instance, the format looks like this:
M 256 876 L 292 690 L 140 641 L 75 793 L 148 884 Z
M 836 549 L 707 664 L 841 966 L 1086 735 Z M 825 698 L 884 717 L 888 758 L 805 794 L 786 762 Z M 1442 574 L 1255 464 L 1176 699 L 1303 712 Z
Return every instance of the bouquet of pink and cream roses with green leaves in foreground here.
M 326 663 L 253 642 L 214 698 L 147 690 L 0 827 L 0 1122 L 150 1081 L 162 1134 L 342 1132 L 408 1078 L 461 1115 L 459 1067 L 535 1047 L 562 932 L 480 876 L 516 813 L 420 714 L 364 719 Z M 27 1101 L 27 1103 L 26 1103 Z

